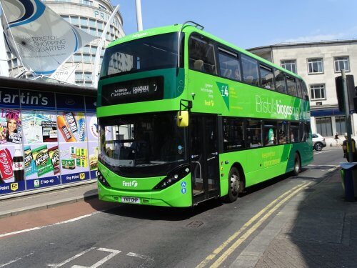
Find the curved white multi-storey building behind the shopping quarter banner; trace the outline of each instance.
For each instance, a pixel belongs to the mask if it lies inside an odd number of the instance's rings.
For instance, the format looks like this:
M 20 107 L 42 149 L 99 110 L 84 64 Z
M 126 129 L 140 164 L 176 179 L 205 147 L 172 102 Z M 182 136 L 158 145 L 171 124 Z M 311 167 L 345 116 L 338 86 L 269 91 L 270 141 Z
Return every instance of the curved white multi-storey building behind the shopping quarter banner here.
M 110 0 L 43 0 L 44 4 L 59 14 L 62 18 L 74 24 L 79 29 L 87 33 L 101 37 L 106 26 L 106 22 L 114 11 L 114 6 Z M 112 21 L 109 31 L 101 50 L 101 59 L 104 55 L 104 48 L 110 41 L 124 36 L 123 19 L 118 11 Z M 99 39 L 91 41 L 86 46 L 76 51 L 65 64 L 54 74 L 54 78 L 63 79 L 71 84 L 79 86 L 95 86 L 94 81 L 94 60 Z M 7 63 L 9 66 L 9 76 L 16 77 L 24 72 L 21 61 L 10 52 L 7 52 Z M 101 61 L 100 61 L 101 62 Z M 100 69 L 100 68 L 99 68 Z M 32 74 L 26 74 L 26 78 L 31 78 Z

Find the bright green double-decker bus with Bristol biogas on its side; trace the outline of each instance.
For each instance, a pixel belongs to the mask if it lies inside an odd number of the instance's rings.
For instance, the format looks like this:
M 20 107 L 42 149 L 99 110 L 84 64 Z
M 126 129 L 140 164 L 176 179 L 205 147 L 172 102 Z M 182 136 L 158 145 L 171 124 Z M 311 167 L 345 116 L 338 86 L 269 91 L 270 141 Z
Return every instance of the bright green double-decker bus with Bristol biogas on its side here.
M 97 116 L 104 201 L 234 202 L 246 187 L 313 160 L 301 77 L 193 21 L 111 42 Z

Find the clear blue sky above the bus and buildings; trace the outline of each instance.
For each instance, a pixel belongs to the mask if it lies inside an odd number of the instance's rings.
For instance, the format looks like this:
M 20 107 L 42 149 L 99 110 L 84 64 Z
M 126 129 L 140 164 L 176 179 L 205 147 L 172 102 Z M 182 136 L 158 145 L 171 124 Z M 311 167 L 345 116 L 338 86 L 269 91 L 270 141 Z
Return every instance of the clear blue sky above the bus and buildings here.
M 135 0 L 111 0 L 126 34 L 137 31 Z M 243 49 L 283 42 L 357 39 L 356 0 L 141 0 L 143 28 L 195 21 Z

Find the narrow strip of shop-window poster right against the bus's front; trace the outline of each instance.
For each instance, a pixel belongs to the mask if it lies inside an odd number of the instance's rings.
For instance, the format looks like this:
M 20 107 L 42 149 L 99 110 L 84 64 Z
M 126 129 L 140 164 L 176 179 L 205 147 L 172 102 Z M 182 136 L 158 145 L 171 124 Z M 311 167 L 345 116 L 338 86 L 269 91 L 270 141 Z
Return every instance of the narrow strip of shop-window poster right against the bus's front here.
M 96 179 L 96 171 L 98 170 L 98 124 L 96 114 L 86 114 L 86 124 L 88 133 L 88 147 L 89 147 L 89 169 L 91 172 L 91 179 Z

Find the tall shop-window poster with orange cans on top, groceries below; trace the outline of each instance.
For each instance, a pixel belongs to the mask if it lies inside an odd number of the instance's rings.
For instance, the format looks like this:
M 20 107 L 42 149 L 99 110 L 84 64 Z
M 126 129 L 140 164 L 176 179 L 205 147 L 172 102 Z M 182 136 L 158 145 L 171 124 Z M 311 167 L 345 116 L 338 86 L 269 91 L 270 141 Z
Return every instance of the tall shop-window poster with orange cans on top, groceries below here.
M 81 111 L 57 114 L 62 183 L 89 179 L 89 150 L 86 118 Z

